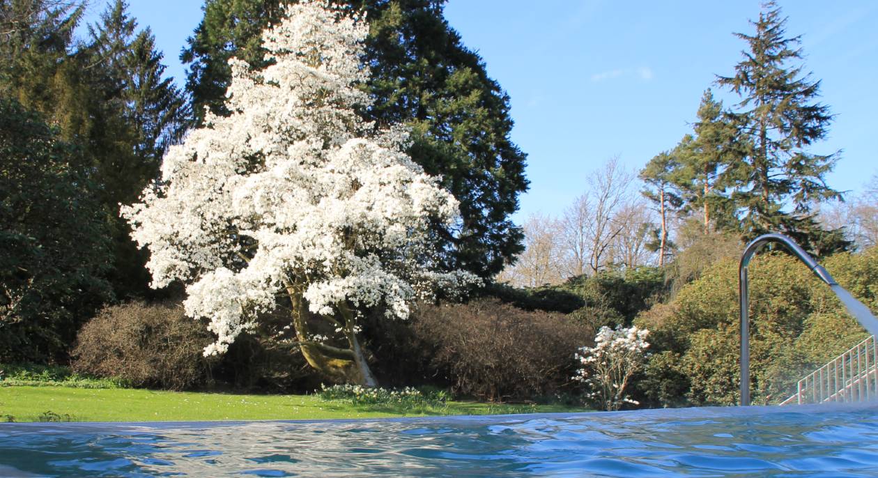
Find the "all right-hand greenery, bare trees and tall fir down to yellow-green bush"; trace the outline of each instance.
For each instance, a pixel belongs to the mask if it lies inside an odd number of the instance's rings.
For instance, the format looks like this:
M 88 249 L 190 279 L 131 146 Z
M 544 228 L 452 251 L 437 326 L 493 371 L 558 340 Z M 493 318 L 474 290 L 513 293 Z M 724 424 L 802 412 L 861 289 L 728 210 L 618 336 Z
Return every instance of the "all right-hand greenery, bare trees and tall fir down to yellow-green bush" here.
M 591 330 L 650 330 L 632 391 L 644 406 L 738 403 L 738 260 L 758 235 L 793 237 L 878 311 L 869 286 L 878 280 L 878 176 L 846 201 L 826 184 L 840 155 L 812 152 L 832 114 L 817 99 L 820 82 L 804 73 L 800 39 L 786 34 L 774 3 L 751 23 L 753 33 L 736 33 L 743 60 L 714 85 L 737 101 L 704 91 L 692 131 L 639 171 L 639 192 L 612 159 L 558 219 L 531 216 L 528 249 L 499 276 L 524 287 L 504 295 L 522 307 L 564 311 Z M 754 264 L 752 396 L 777 403 L 867 334 L 783 250 Z M 581 284 L 601 292 L 584 294 Z

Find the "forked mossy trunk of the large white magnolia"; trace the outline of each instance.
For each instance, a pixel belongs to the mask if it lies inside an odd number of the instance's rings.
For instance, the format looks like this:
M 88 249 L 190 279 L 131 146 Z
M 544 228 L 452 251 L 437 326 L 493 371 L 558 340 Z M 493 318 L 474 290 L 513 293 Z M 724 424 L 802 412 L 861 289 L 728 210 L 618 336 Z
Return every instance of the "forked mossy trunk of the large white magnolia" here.
M 348 338 L 349 349 L 342 349 L 312 340 L 311 330 L 308 328 L 308 319 L 312 318 L 311 312 L 302 291 L 298 286 L 287 285 L 286 292 L 292 303 L 292 325 L 299 339 L 299 350 L 306 362 L 314 370 L 326 376 L 329 380 L 340 383 L 352 383 L 364 387 L 378 387 L 378 381 L 372 375 L 369 364 L 363 354 L 359 341 L 354 331 L 353 316 L 344 317 L 345 323 L 335 321 L 331 317 L 323 317 L 335 325 L 341 326 Z M 344 315 L 344 313 L 342 313 Z

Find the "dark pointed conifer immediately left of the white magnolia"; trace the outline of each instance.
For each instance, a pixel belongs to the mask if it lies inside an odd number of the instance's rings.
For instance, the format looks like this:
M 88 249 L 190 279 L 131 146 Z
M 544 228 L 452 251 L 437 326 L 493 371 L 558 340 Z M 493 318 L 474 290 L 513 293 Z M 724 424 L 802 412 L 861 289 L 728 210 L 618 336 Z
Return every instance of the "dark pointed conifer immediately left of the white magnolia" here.
M 108 5 L 101 21 L 90 26 L 90 37 L 82 56 L 97 99 L 90 147 L 101 200 L 111 212 L 110 279 L 119 297 L 143 296 L 150 293 L 147 255 L 131 240 L 119 204 L 131 204 L 158 177 L 164 150 L 182 134 L 188 110 L 183 93 L 164 76 L 155 38 L 149 29 L 137 31 L 123 0 Z

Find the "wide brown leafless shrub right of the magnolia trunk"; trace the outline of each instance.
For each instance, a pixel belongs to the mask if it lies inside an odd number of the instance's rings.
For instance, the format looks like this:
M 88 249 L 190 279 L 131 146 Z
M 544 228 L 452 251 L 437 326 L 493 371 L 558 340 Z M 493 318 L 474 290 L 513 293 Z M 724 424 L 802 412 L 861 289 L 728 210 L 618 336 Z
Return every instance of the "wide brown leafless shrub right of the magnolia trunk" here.
M 497 300 L 422 306 L 415 335 L 455 393 L 494 402 L 545 396 L 572 385 L 573 354 L 593 339 L 565 315 Z

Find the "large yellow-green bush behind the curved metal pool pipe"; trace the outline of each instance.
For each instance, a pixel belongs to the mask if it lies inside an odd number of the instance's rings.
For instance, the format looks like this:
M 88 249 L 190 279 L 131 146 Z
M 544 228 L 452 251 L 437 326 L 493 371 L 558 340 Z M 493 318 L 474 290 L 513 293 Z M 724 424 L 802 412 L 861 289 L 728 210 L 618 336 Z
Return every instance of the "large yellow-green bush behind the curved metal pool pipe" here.
M 840 253 L 824 265 L 839 284 L 878 311 L 878 295 L 870 286 L 878 280 L 878 250 Z M 757 257 L 750 271 L 750 306 L 754 403 L 781 402 L 803 375 L 867 336 L 831 289 L 793 257 Z M 738 257 L 720 261 L 636 323 L 651 330 L 657 352 L 651 360 L 659 362 L 647 366 L 651 375 L 644 380 L 654 404 L 738 402 Z M 672 356 L 678 359 L 670 362 L 669 373 L 665 368 Z

